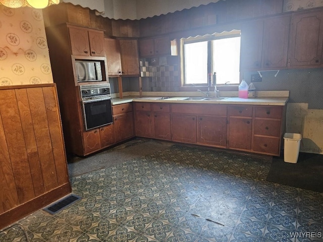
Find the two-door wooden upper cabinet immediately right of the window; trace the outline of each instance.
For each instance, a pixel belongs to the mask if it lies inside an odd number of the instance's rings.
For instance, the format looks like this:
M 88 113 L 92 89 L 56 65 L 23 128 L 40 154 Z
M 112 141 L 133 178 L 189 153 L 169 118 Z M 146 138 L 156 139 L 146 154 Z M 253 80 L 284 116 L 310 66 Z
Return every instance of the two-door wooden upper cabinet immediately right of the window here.
M 242 25 L 241 69 L 287 68 L 290 15 L 255 20 Z

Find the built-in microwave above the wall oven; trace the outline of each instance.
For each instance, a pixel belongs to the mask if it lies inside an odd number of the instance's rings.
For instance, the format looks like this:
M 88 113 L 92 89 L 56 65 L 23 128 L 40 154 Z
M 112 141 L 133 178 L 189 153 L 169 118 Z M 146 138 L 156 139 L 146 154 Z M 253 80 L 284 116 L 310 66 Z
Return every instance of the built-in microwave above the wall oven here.
M 102 81 L 101 62 L 75 61 L 76 77 L 78 82 Z

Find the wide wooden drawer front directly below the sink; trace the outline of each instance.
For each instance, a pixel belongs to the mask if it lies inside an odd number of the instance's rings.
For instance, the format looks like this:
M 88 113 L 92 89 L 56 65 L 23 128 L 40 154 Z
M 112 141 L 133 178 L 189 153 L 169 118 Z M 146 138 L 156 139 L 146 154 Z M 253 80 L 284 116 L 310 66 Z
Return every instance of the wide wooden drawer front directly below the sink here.
M 172 112 L 209 115 L 227 115 L 225 104 L 172 104 Z

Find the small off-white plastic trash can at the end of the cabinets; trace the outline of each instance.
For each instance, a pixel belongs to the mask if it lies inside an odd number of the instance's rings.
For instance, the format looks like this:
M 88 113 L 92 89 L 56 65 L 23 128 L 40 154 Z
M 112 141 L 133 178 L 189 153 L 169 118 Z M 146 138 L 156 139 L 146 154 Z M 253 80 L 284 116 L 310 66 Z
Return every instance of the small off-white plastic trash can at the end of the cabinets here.
M 297 163 L 299 147 L 302 135 L 285 133 L 284 135 L 284 161 L 289 163 Z

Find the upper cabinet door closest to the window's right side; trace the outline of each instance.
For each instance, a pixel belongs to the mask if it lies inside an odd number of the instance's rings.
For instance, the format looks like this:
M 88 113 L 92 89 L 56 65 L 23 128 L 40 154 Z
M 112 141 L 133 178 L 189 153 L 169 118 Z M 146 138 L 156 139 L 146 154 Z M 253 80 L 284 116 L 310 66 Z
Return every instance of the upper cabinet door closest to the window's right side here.
M 242 70 L 259 70 L 262 59 L 263 20 L 244 23 L 241 27 L 240 66 Z

